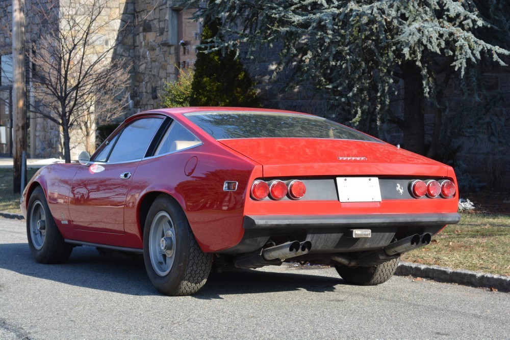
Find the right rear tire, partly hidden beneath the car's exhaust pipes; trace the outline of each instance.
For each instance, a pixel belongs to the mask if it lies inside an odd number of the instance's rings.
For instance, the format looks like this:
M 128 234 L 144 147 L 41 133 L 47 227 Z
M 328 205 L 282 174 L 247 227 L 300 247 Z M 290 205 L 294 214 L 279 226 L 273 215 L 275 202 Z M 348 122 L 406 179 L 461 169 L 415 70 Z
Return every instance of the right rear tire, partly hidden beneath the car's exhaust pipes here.
M 373 267 L 356 267 L 336 265 L 340 276 L 349 284 L 360 286 L 376 286 L 388 281 L 397 270 L 400 258 L 381 263 Z

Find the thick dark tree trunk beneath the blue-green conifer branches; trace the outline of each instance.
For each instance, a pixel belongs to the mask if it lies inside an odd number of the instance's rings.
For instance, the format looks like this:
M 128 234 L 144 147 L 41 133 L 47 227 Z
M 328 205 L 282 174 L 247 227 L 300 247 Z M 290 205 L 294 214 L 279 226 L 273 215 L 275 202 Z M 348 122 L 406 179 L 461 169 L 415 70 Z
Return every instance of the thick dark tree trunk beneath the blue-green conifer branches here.
M 404 145 L 406 150 L 425 154 L 425 118 L 423 83 L 420 68 L 414 61 L 402 65 L 404 80 Z

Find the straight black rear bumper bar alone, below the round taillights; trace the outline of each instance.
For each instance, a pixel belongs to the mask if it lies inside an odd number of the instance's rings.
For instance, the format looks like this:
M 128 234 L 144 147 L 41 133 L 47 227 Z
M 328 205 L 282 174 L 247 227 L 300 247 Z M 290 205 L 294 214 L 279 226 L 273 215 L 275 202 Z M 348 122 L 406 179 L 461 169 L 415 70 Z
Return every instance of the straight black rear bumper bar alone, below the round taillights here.
M 373 215 L 269 215 L 245 216 L 244 229 L 273 228 L 355 228 L 399 225 L 455 224 L 461 220 L 459 213 L 429 214 L 373 214 Z

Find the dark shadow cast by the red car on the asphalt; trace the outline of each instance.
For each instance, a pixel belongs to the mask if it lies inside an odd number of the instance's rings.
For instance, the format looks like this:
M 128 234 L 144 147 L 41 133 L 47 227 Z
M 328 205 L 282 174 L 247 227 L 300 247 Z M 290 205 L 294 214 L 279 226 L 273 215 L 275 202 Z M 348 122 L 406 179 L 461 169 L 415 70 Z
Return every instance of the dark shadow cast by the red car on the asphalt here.
M 65 264 L 37 263 L 27 243 L 0 244 L 0 268 L 35 278 L 63 284 L 128 295 L 160 295 L 145 272 L 142 257 L 112 259 L 99 256 L 93 247 L 76 247 Z M 221 299 L 222 295 L 270 292 L 331 292 L 345 284 L 340 278 L 304 274 L 240 270 L 211 273 L 206 285 L 196 294 L 198 299 Z M 303 274 L 301 274 L 303 273 Z

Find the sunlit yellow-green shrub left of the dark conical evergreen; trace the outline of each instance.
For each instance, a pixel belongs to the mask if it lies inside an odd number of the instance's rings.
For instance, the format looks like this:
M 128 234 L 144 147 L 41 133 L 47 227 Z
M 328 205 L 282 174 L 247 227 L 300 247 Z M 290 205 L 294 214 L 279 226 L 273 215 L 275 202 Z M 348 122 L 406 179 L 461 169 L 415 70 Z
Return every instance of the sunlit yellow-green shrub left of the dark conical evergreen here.
M 180 69 L 176 81 L 165 83 L 163 93 L 160 95 L 162 107 L 190 106 L 193 73 L 193 70 L 184 71 Z

